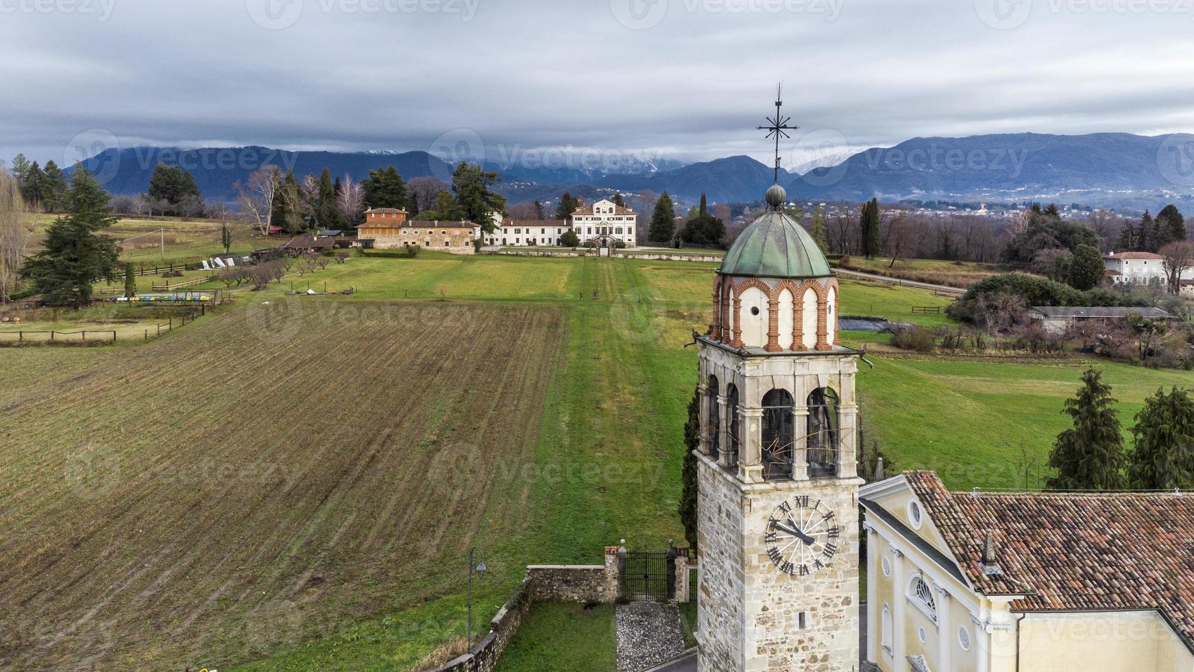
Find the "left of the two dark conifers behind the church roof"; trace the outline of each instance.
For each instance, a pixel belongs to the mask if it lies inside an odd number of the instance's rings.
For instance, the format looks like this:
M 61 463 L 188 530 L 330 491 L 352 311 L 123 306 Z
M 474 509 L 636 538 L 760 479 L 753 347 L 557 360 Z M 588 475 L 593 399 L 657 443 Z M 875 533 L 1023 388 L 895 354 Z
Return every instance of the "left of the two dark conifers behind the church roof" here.
M 1124 437 L 1110 386 L 1102 374 L 1088 369 L 1075 399 L 1065 400 L 1063 413 L 1073 419 L 1073 427 L 1058 434 L 1050 455 L 1050 467 L 1057 475 L 1048 480 L 1054 489 L 1121 489 L 1124 477 Z

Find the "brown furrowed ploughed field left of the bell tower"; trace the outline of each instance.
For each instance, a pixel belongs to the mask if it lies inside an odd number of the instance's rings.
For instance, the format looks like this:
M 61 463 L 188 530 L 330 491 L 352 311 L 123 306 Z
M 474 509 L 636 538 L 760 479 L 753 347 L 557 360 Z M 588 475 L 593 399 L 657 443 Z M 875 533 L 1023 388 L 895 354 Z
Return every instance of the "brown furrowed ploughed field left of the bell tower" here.
M 334 306 L 0 352 L 0 667 L 224 667 L 436 597 L 533 524 L 525 483 L 473 476 L 534 462 L 561 313 Z

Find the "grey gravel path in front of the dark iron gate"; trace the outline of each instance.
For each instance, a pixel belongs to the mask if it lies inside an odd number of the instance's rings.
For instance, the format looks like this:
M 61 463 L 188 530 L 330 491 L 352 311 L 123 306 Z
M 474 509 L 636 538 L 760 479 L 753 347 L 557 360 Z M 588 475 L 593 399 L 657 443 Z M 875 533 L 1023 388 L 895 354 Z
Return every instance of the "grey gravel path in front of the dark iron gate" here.
M 638 672 L 684 653 L 675 604 L 632 602 L 617 605 L 617 672 Z

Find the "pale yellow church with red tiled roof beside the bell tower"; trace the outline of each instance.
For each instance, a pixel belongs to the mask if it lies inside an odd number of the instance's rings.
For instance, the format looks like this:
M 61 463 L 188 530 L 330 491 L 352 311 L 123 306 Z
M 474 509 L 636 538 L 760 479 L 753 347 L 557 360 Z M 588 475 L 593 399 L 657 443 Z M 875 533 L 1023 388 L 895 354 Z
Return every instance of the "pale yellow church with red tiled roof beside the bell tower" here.
M 1194 494 L 863 486 L 884 672 L 1194 671 Z

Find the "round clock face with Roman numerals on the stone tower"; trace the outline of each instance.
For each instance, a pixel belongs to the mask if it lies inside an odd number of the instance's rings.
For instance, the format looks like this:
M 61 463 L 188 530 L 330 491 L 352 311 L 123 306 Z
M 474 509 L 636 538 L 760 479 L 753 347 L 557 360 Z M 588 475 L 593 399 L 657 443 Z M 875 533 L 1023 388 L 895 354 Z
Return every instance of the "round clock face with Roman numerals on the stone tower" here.
M 763 541 L 780 572 L 807 577 L 833 559 L 839 534 L 837 517 L 824 503 L 794 497 L 775 508 Z

